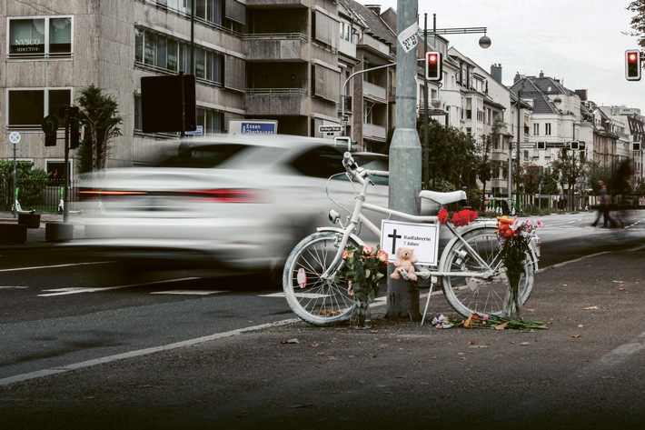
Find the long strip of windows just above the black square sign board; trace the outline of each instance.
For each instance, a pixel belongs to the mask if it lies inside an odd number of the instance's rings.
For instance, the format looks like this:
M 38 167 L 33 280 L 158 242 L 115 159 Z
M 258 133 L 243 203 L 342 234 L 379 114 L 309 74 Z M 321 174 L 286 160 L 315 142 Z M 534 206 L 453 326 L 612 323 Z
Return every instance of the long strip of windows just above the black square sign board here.
M 160 72 L 190 73 L 190 45 L 166 35 L 135 28 L 134 63 Z M 198 82 L 223 85 L 223 55 L 195 46 L 194 75 Z

